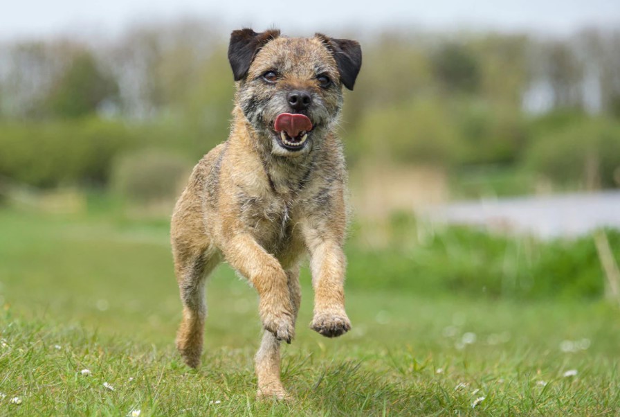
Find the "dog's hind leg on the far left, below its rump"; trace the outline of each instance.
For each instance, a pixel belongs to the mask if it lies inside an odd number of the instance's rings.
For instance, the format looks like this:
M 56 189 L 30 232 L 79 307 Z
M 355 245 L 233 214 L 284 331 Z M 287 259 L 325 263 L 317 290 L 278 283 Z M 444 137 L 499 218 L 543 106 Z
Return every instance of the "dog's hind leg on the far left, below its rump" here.
M 178 251 L 174 253 L 176 277 L 183 302 L 183 319 L 176 334 L 176 348 L 185 363 L 196 368 L 200 364 L 207 314 L 205 279 L 219 263 L 219 256 L 206 251 L 185 256 L 177 256 Z

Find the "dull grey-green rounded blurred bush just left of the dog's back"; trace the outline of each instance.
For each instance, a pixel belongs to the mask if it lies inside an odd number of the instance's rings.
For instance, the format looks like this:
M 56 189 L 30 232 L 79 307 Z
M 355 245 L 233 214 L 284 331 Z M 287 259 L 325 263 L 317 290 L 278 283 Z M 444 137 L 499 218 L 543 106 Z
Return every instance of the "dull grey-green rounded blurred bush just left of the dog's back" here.
M 192 164 L 163 150 L 138 150 L 113 163 L 111 189 L 129 202 L 172 202 L 179 195 Z

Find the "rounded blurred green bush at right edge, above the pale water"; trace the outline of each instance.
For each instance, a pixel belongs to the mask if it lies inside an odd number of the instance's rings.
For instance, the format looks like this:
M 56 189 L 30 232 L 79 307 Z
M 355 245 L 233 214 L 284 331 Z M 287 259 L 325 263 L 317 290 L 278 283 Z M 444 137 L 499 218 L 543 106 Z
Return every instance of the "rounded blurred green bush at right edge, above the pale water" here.
M 527 150 L 527 165 L 558 184 L 619 186 L 620 123 L 594 118 L 557 131 L 547 127 L 557 120 L 551 118 L 540 128 Z

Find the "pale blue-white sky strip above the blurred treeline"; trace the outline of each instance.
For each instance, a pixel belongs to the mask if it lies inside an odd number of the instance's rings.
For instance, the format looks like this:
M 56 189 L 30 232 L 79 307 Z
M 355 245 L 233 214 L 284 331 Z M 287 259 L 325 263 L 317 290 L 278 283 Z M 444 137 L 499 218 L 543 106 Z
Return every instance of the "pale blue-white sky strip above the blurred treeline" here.
M 381 28 L 573 33 L 620 28 L 619 0 L 3 0 L 0 39 L 58 34 L 114 35 L 131 24 L 187 17 L 232 30 L 277 27 L 283 33 Z

